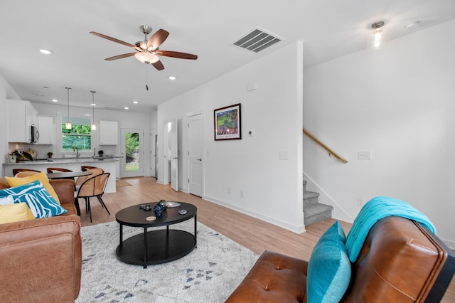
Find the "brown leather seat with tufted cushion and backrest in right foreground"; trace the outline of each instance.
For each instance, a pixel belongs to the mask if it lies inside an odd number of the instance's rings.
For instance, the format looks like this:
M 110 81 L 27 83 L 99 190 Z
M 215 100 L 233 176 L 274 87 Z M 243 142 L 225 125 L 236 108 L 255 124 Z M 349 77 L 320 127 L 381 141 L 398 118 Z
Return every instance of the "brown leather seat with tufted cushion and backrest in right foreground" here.
M 264 252 L 226 302 L 307 302 L 308 262 Z M 371 228 L 341 302 L 439 302 L 454 252 L 413 220 L 390 216 Z

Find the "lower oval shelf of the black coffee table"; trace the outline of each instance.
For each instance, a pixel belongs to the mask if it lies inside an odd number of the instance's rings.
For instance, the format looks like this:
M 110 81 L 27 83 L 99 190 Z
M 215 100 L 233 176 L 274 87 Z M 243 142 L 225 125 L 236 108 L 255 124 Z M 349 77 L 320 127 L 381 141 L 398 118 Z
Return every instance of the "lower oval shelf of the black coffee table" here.
M 144 243 L 147 245 L 146 250 Z M 134 235 L 120 243 L 116 253 L 122 262 L 143 265 L 146 268 L 147 265 L 176 260 L 188 255 L 194 248 L 196 235 L 184 230 L 166 228 Z

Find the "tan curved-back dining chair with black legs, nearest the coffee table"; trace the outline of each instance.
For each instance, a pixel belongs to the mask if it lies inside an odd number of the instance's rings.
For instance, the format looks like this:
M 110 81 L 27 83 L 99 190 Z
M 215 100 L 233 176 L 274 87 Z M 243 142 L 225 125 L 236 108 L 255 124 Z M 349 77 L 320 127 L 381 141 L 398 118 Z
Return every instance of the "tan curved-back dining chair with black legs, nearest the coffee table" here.
M 75 203 L 79 203 L 79 198 L 85 199 L 85 213 L 90 216 L 90 222 L 92 222 L 92 208 L 90 206 L 90 198 L 97 197 L 98 201 L 103 208 L 106 209 L 107 213 L 109 210 L 104 201 L 102 201 L 102 195 L 105 193 L 107 180 L 109 179 L 110 173 L 103 173 L 97 176 L 92 176 L 85 180 L 80 188 L 75 192 Z M 109 213 L 110 215 L 111 213 Z

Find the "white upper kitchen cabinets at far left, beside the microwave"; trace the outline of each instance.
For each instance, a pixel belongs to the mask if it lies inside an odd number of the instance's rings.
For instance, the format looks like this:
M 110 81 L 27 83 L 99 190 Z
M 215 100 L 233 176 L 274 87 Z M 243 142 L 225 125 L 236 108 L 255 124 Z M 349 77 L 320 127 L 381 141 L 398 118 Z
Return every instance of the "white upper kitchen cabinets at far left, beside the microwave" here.
M 38 112 L 30 102 L 6 100 L 6 112 L 8 114 L 6 116 L 8 119 L 8 142 L 32 143 L 32 141 L 38 141 L 39 133 L 36 127 Z

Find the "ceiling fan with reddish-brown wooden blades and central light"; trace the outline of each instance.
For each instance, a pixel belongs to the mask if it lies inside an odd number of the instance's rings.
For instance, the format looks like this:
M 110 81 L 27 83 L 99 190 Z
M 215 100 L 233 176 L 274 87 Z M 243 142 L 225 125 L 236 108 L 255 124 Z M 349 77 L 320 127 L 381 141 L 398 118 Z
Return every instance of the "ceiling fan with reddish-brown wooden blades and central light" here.
M 159 55 L 164 55 L 166 57 L 173 57 L 173 58 L 191 59 L 191 60 L 196 60 L 198 58 L 197 55 L 192 55 L 191 53 L 180 53 L 180 52 L 171 51 L 171 50 L 160 50 L 159 46 L 161 46 L 161 43 L 163 43 L 166 40 L 166 38 L 168 38 L 168 36 L 169 36 L 168 31 L 165 31 L 164 29 L 160 28 L 153 35 L 151 35 L 151 37 L 149 39 L 147 39 L 147 35 L 149 35 L 149 33 L 151 33 L 151 27 L 143 25 L 143 26 L 139 26 L 139 28 L 140 28 L 141 32 L 144 33 L 145 38 L 144 38 L 144 41 L 138 41 L 134 44 L 127 43 L 127 42 L 121 41 L 119 39 L 103 35 L 102 33 L 97 33 L 95 31 L 90 31 L 90 33 L 92 35 L 123 44 L 124 46 L 129 46 L 136 50 L 136 52 L 134 52 L 134 53 L 124 53 L 122 55 L 114 55 L 113 57 L 106 58 L 105 60 L 108 60 L 108 61 L 127 58 L 127 57 L 131 57 L 132 55 L 134 55 L 134 58 L 141 61 L 141 63 L 154 65 L 154 67 L 157 70 L 164 70 L 164 65 L 159 60 L 159 57 L 158 57 Z

